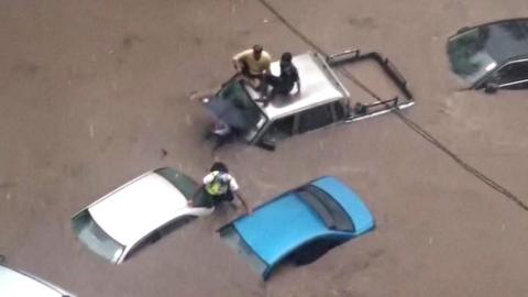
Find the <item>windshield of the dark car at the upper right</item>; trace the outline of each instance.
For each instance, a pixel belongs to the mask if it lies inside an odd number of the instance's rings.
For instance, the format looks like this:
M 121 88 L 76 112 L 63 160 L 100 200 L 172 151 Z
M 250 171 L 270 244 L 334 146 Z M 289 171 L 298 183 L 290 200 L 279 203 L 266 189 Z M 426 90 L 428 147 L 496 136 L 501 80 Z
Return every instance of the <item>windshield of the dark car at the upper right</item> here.
M 469 85 L 473 85 L 497 67 L 486 48 L 487 28 L 475 28 L 453 36 L 448 42 L 451 69 Z

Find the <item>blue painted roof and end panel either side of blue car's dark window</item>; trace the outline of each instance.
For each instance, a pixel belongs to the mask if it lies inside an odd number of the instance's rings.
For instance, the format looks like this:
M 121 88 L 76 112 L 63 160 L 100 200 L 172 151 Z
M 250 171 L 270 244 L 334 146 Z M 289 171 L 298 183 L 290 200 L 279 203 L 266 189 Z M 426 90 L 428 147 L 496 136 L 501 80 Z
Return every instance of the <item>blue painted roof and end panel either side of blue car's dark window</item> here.
M 374 227 L 374 219 L 366 206 L 342 182 L 336 177 L 322 177 L 311 185 L 327 191 L 349 213 L 356 229 L 351 237 Z M 271 266 L 311 239 L 334 232 L 343 233 L 328 229 L 319 215 L 295 193 L 279 196 L 232 224 L 255 254 Z

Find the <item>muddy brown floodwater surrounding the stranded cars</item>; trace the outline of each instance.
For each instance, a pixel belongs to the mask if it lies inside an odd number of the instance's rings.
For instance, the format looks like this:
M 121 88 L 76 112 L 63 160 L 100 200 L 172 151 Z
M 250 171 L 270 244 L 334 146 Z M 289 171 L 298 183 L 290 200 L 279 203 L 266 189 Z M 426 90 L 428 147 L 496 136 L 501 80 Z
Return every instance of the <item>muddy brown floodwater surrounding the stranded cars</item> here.
M 526 16 L 526 1 L 270 3 L 328 53 L 391 58 L 416 98 L 403 114 L 528 204 L 528 92 L 461 90 L 446 54 L 460 28 Z M 208 114 L 189 94 L 223 82 L 232 55 L 255 43 L 274 59 L 311 51 L 258 1 L 2 1 L 0 40 L 0 254 L 13 267 L 78 296 L 528 296 L 528 212 L 395 114 L 301 134 L 275 152 L 211 152 Z M 389 96 L 375 75 L 354 76 Z M 338 176 L 376 230 L 266 283 L 216 232 L 240 215 L 231 209 L 118 266 L 74 235 L 72 216 L 133 177 L 172 166 L 199 180 L 215 160 L 252 207 Z

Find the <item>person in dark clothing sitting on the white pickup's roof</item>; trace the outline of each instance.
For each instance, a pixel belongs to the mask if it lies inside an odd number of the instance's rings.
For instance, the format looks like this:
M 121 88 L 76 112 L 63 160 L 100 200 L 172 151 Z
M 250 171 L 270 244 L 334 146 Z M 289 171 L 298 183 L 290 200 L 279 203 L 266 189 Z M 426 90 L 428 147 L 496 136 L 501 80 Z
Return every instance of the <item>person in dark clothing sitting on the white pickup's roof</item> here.
M 284 53 L 280 56 L 280 76 L 266 74 L 264 76 L 264 98 L 260 101 L 267 105 L 276 95 L 288 96 L 297 84 L 297 94 L 300 92 L 299 74 L 294 63 L 292 63 L 292 54 Z M 267 95 L 267 86 L 272 87 L 272 92 Z

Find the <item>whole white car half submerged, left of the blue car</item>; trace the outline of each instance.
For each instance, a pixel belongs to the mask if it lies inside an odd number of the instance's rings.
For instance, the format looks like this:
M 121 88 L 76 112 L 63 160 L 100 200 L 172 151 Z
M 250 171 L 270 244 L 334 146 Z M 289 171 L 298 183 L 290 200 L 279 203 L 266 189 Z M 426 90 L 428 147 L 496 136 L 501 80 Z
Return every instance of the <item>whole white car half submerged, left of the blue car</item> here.
M 210 215 L 215 208 L 206 197 L 188 206 L 197 188 L 173 168 L 147 172 L 75 215 L 73 229 L 94 253 L 120 264 L 189 219 Z

